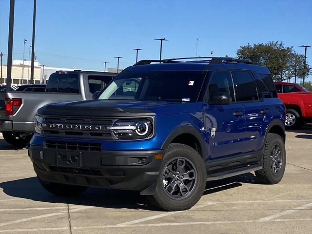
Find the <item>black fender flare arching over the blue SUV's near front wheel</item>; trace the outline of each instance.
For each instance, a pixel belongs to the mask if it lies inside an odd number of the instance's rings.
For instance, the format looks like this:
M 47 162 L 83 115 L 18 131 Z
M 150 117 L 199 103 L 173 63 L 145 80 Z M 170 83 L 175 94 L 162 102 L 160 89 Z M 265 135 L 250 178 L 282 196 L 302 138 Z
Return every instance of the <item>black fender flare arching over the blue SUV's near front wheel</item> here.
M 196 140 L 199 142 L 200 146 L 200 152 L 202 154 L 202 158 L 205 161 L 207 157 L 207 143 L 205 139 L 202 137 L 202 135 L 192 126 L 181 126 L 176 128 L 165 140 L 165 142 L 162 144 L 161 149 L 167 149 L 169 144 L 179 135 L 181 134 L 191 134 L 193 137 L 196 138 Z

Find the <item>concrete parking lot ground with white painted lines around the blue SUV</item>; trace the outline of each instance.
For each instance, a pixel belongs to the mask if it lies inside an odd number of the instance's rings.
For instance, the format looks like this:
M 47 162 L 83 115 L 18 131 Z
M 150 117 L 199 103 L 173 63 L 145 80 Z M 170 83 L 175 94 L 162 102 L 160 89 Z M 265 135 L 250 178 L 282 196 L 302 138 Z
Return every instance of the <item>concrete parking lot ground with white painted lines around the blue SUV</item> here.
M 277 185 L 254 174 L 207 183 L 188 211 L 163 212 L 137 192 L 91 188 L 78 197 L 45 192 L 25 148 L 0 137 L 0 233 L 312 233 L 312 125 L 287 132 Z

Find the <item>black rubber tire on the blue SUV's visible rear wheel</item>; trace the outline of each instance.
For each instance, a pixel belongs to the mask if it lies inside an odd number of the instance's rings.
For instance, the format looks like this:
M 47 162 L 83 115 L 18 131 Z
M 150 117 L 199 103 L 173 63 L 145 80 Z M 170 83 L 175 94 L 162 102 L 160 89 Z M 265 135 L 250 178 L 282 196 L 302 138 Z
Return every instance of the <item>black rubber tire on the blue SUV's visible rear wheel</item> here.
M 271 163 L 271 154 L 273 153 L 273 150 L 276 149 L 274 148 L 275 146 L 278 146 L 280 149 L 281 163 L 279 163 L 280 169 L 274 173 L 274 163 Z M 279 158 L 276 161 L 278 162 Z M 255 176 L 257 176 L 261 183 L 277 184 L 279 181 L 281 181 L 286 168 L 286 150 L 282 137 L 273 133 L 268 134 L 264 146 L 261 163 L 263 165 L 263 168 L 261 170 L 255 171 Z M 277 164 L 275 163 L 275 167 L 276 165 Z M 277 166 L 277 168 L 279 167 L 279 165 Z

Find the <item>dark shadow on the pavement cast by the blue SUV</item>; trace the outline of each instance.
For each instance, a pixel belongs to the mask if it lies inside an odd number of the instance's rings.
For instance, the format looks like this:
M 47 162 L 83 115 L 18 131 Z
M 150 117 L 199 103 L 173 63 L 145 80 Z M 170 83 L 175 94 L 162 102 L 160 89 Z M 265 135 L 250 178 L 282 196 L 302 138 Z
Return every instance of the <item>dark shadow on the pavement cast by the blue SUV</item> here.
M 235 176 L 228 179 L 209 181 L 206 185 L 204 195 L 217 193 L 220 191 L 233 189 L 242 183 L 257 183 L 252 173 Z M 0 183 L 3 193 L 11 197 L 30 199 L 33 201 L 47 203 L 64 203 L 74 205 L 85 205 L 112 209 L 141 209 L 149 211 L 159 211 L 152 206 L 145 196 L 137 191 L 123 191 L 102 188 L 90 188 L 85 193 L 78 196 L 60 197 L 46 192 L 37 177 L 23 178 Z

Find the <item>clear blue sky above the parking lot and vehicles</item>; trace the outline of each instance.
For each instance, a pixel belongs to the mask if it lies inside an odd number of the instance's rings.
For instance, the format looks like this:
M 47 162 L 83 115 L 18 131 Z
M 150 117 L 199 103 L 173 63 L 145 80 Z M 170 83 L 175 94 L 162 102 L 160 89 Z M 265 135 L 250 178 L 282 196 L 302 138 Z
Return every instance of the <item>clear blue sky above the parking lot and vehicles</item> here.
M 16 0 L 14 59 L 26 59 L 32 35 L 32 0 Z M 0 0 L 0 51 L 7 54 L 9 0 Z M 303 53 L 301 44 L 312 44 L 312 0 L 232 1 L 108 1 L 38 0 L 35 52 L 41 64 L 58 67 L 103 69 L 158 59 L 159 42 L 165 37 L 163 58 L 198 55 L 235 56 L 241 45 L 271 40 Z M 90 59 L 72 59 L 72 58 Z M 7 57 L 4 57 L 6 63 Z M 312 62 L 312 49 L 308 49 Z

